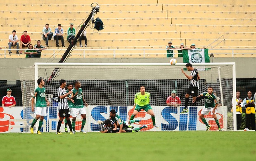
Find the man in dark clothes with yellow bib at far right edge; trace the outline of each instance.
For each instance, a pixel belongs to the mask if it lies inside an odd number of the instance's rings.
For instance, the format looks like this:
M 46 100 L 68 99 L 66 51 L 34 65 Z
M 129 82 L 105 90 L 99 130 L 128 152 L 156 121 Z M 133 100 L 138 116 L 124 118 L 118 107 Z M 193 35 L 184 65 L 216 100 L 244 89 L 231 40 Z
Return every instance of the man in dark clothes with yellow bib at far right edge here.
M 247 98 L 244 99 L 245 107 L 245 128 L 255 130 L 255 104 L 254 100 L 251 97 L 251 91 L 247 92 Z

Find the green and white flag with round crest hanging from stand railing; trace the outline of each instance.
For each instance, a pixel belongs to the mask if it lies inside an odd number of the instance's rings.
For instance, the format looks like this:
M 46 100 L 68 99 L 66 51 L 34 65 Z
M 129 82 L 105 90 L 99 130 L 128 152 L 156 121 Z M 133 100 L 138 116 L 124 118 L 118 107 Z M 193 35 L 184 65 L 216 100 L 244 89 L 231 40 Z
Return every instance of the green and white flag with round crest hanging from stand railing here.
M 184 63 L 209 63 L 208 49 L 182 50 Z M 204 69 L 197 69 L 204 70 Z

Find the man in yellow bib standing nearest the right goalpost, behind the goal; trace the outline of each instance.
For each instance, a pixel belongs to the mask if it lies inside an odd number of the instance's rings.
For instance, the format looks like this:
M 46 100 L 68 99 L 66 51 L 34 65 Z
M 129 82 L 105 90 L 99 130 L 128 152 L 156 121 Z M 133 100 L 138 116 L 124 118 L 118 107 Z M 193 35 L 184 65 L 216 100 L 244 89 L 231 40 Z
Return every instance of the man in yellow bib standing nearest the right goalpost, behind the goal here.
M 241 121 L 242 121 L 242 107 L 244 107 L 243 100 L 240 98 L 240 92 L 236 92 L 236 102 L 232 103 L 236 104 L 236 113 L 237 113 L 237 130 L 241 127 Z

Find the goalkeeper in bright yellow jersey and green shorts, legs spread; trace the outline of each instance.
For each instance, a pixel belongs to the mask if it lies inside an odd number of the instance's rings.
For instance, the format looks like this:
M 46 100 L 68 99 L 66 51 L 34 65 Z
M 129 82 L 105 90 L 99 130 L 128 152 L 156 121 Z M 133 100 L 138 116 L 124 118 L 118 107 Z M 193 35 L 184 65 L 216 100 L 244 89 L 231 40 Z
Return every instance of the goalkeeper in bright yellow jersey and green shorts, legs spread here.
M 159 128 L 158 125 L 156 125 L 154 111 L 152 107 L 149 105 L 149 98 L 150 93 L 145 92 L 145 87 L 143 85 L 140 86 L 140 92 L 137 92 L 135 94 L 133 106 L 135 109 L 133 111 L 132 116 L 130 117 L 130 120 L 133 120 L 133 118 L 143 109 L 151 115 L 153 126 Z

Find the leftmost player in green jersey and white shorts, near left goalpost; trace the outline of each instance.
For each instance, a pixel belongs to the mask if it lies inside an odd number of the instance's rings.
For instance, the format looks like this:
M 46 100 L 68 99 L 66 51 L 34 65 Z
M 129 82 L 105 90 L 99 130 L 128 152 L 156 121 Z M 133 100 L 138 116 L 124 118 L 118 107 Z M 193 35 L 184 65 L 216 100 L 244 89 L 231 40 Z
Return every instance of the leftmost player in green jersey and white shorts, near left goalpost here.
M 31 98 L 31 110 L 32 112 L 34 111 L 34 101 L 36 97 L 36 117 L 33 119 L 30 132 L 33 134 L 34 133 L 34 125 L 36 124 L 36 121 L 38 118 L 40 118 L 39 121 L 39 126 L 38 126 L 38 131 L 36 132 L 37 134 L 40 134 L 40 128 L 43 125 L 43 118 L 46 116 L 46 105 L 49 106 L 50 102 L 48 102 L 48 99 L 45 96 L 45 88 L 43 86 L 45 85 L 45 81 L 42 78 L 39 78 L 37 80 L 38 87 L 34 90 L 33 97 Z

